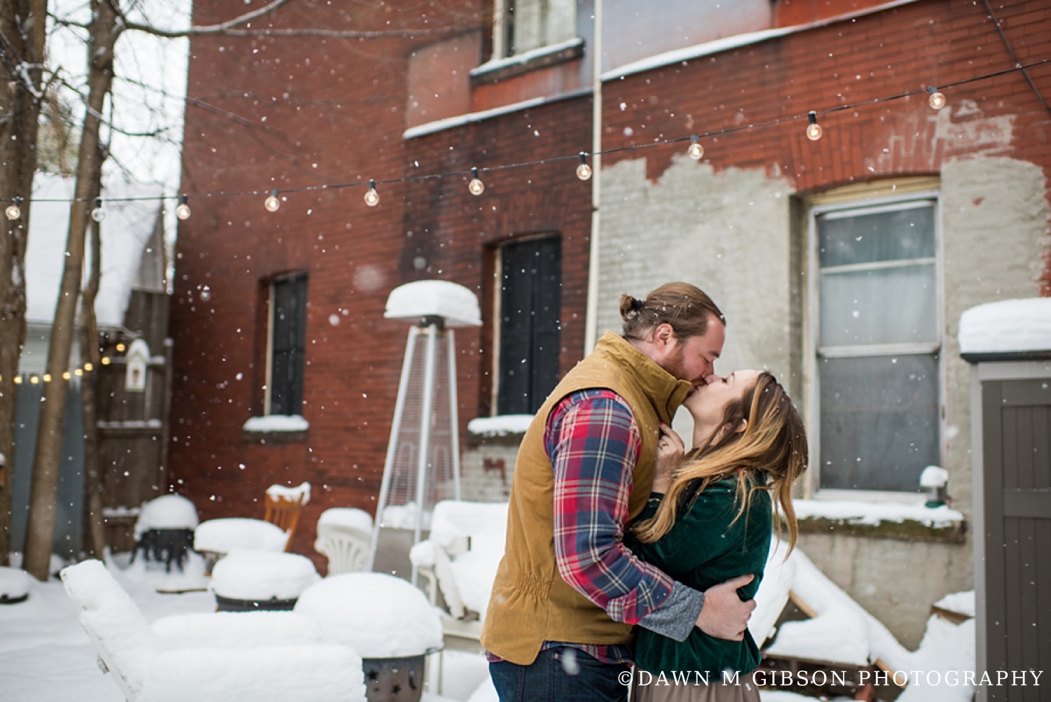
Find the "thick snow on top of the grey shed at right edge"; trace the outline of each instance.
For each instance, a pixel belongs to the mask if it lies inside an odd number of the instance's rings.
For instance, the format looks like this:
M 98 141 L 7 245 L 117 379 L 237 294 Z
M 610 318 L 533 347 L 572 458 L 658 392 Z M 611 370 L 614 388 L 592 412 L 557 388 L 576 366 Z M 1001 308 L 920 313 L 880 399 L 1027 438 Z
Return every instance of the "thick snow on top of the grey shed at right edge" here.
M 1051 351 L 1051 297 L 1002 300 L 960 315 L 961 353 Z

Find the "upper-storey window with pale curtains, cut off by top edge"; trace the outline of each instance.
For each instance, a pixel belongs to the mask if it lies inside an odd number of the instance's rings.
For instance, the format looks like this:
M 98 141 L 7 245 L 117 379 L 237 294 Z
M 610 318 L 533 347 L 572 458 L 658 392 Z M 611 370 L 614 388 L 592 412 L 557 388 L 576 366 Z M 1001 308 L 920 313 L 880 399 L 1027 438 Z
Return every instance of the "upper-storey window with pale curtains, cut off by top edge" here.
M 503 59 L 577 36 L 577 0 L 496 0 L 493 57 Z

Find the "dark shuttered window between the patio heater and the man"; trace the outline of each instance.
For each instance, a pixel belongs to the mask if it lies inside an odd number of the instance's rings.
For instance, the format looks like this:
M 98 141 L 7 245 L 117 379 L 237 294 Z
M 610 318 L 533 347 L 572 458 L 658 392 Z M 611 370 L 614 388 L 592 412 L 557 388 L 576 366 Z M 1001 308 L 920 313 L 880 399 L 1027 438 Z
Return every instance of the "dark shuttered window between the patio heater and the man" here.
M 562 253 L 557 238 L 502 249 L 497 412 L 536 412 L 558 383 Z

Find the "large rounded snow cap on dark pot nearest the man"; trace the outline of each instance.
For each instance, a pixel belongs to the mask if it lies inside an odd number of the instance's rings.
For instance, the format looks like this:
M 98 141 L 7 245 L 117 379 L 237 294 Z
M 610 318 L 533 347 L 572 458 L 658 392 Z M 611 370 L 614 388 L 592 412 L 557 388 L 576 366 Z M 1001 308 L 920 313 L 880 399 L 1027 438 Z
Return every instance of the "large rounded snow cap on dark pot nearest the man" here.
M 297 614 L 363 658 L 420 656 L 441 647 L 441 620 L 423 592 L 382 573 L 344 573 L 307 589 Z

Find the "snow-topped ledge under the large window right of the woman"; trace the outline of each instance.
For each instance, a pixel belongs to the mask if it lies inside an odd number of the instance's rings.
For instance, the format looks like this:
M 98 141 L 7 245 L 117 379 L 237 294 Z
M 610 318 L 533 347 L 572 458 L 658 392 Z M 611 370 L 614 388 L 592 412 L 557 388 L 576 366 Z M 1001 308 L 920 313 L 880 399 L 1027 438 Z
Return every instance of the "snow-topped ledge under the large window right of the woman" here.
M 923 501 L 861 499 L 792 500 L 803 534 L 840 534 L 872 538 L 963 543 L 964 515 L 948 505 Z

